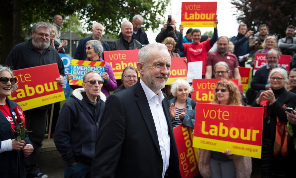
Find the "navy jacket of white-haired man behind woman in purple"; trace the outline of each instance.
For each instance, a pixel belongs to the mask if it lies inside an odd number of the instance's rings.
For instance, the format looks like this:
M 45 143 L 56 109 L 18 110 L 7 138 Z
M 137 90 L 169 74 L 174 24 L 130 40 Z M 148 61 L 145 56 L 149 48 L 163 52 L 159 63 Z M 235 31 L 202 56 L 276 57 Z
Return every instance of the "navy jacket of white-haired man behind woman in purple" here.
M 85 60 L 87 58 L 87 55 L 85 53 L 85 47 L 86 47 L 86 42 L 88 42 L 90 40 L 93 40 L 92 36 L 88 37 L 88 38 L 80 39 L 79 44 L 78 44 L 78 46 L 76 48 L 75 55 L 74 55 L 73 59 Z M 102 40 L 100 42 L 102 43 L 104 51 L 109 51 L 110 50 L 110 47 L 109 47 L 108 43 L 106 43 L 106 42 L 104 42 Z M 101 57 L 104 59 L 103 53 L 101 53 Z

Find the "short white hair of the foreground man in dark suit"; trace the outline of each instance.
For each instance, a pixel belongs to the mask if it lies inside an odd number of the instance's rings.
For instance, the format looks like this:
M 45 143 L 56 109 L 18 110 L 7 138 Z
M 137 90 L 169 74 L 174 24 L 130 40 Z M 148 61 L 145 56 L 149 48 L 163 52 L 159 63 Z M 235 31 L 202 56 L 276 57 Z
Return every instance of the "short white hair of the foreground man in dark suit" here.
M 138 61 L 141 62 L 143 65 L 146 64 L 146 62 L 149 60 L 150 58 L 150 52 L 153 48 L 157 48 L 158 50 L 161 50 L 161 49 L 165 49 L 167 52 L 167 46 L 165 44 L 162 44 L 162 43 L 152 43 L 152 44 L 149 44 L 149 45 L 145 45 L 144 47 L 142 47 L 140 50 L 139 50 L 139 53 L 138 53 Z

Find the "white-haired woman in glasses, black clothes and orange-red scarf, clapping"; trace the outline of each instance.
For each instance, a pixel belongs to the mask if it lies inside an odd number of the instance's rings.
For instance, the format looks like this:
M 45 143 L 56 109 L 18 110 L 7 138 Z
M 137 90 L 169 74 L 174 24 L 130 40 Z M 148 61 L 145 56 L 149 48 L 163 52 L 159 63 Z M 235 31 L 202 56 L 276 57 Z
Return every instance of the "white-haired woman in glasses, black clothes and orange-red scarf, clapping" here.
M 286 107 L 295 108 L 296 94 L 286 91 L 287 71 L 281 68 L 272 69 L 269 74 L 270 89 L 261 91 L 252 106 L 263 107 L 263 135 L 261 176 L 287 176 L 289 166 L 288 130 Z M 261 119 L 261 118 L 258 118 Z M 288 176 L 289 177 L 289 176 Z

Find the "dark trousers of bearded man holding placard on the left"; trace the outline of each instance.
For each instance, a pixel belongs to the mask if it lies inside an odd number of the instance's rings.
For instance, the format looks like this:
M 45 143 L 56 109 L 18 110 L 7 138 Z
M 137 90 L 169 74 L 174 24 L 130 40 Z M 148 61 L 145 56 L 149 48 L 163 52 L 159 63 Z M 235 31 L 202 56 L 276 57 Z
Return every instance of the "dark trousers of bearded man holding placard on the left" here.
M 40 172 L 37 165 L 37 159 L 44 139 L 47 110 L 35 108 L 24 111 L 24 114 L 26 129 L 32 131 L 28 135 L 34 147 L 34 152 L 28 157 L 30 165 L 28 165 L 27 161 L 25 161 L 25 167 L 27 174 L 35 175 Z

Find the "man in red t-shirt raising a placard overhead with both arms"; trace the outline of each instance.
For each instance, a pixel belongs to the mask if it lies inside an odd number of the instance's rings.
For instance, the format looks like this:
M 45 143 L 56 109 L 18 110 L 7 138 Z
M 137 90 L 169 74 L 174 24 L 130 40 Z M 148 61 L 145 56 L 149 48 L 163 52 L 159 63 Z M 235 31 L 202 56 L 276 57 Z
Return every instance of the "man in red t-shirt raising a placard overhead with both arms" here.
M 218 19 L 215 20 L 216 25 L 218 24 Z M 187 62 L 203 61 L 203 72 L 202 77 L 205 77 L 206 74 L 206 62 L 207 62 L 207 53 L 211 47 L 215 44 L 218 38 L 217 27 L 214 28 L 214 35 L 211 39 L 208 39 L 204 42 L 199 42 L 201 38 L 201 32 L 199 29 L 193 29 L 191 31 L 192 43 L 183 43 L 183 29 L 184 27 L 180 25 L 180 35 L 178 38 L 177 47 L 182 51 L 187 57 Z

